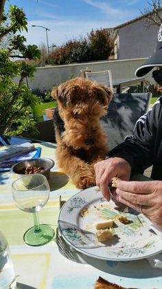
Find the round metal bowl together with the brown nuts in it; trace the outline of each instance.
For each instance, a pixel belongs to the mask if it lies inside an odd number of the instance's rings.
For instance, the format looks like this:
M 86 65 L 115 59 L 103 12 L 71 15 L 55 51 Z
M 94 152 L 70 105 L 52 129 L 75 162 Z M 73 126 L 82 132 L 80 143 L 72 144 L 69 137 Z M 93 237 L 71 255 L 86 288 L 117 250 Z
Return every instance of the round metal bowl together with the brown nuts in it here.
M 24 175 L 42 174 L 49 179 L 50 170 L 53 168 L 55 162 L 53 159 L 47 157 L 39 157 L 38 159 L 26 159 L 19 161 L 11 168 L 11 172 L 17 177 Z

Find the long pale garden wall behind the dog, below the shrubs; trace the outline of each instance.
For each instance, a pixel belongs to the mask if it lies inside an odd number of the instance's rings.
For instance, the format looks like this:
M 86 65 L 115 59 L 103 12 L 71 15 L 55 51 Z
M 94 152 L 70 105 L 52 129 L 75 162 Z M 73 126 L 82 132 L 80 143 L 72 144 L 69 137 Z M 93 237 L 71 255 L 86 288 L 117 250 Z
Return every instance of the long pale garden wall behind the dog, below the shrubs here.
M 130 79 L 135 78 L 135 70 L 146 59 L 125 59 L 112 61 L 97 61 L 91 63 L 76 63 L 66 66 L 45 66 L 37 68 L 34 73 L 34 79 L 28 81 L 30 88 L 39 88 L 43 90 L 51 89 L 55 84 L 67 81 L 70 77 L 80 77 L 80 70 L 88 68 L 89 70 L 101 71 L 111 69 L 113 79 Z M 154 83 L 152 72 L 146 74 L 146 80 Z M 16 82 L 18 79 L 16 79 Z

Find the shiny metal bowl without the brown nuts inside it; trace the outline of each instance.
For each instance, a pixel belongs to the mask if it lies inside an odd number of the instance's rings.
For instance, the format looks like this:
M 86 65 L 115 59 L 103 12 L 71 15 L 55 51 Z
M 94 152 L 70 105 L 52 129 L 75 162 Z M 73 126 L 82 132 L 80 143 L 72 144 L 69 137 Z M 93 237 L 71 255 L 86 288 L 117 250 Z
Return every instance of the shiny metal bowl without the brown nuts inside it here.
M 39 157 L 38 159 L 26 159 L 25 161 L 19 161 L 11 168 L 11 172 L 17 177 L 23 177 L 25 174 L 22 173 L 23 169 L 30 166 L 42 167 L 41 172 L 36 172 L 38 174 L 44 175 L 49 179 L 50 170 L 53 168 L 55 162 L 47 157 Z M 31 174 L 33 175 L 33 174 Z

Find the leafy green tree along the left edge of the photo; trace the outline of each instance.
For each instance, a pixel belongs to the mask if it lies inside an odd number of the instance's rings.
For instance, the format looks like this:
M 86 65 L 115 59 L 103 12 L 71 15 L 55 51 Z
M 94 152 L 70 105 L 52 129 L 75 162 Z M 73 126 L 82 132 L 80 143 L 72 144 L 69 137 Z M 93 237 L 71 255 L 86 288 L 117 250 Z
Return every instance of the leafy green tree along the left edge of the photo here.
M 38 97 L 32 94 L 25 82 L 28 77 L 34 76 L 36 68 L 25 63 L 25 59 L 37 59 L 40 51 L 36 45 L 26 46 L 25 37 L 17 34 L 27 31 L 27 19 L 23 10 L 10 6 L 5 15 L 6 19 L 1 21 L 0 26 L 0 43 L 10 34 L 13 37 L 9 37 L 8 46 L 0 50 L 0 134 L 21 135 L 24 131 L 36 132 L 36 122 L 31 119 L 30 112 L 32 106 L 38 103 Z M 6 20 L 9 24 L 6 24 Z M 13 61 L 14 57 L 23 60 Z M 15 78 L 19 78 L 18 83 L 14 81 Z

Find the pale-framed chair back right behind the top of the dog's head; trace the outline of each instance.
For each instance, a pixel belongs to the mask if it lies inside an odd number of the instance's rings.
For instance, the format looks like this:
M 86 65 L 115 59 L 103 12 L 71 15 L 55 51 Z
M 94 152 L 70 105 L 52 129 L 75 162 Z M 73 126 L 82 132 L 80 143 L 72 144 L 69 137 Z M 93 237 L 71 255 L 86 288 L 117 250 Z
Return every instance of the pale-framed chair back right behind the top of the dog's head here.
M 111 70 L 97 71 L 97 72 L 85 72 L 86 78 L 92 81 L 97 81 L 100 83 L 104 83 L 106 86 L 110 86 L 111 90 L 113 90 L 113 79 Z

